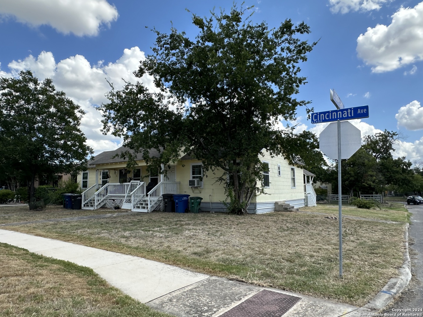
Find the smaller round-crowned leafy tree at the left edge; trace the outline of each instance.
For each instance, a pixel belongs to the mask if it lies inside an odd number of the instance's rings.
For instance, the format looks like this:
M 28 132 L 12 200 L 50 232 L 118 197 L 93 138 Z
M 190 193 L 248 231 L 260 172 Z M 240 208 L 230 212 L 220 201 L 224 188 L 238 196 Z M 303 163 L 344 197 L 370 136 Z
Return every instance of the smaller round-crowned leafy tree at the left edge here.
M 31 71 L 0 78 L 0 92 L 1 169 L 27 183 L 34 209 L 36 178 L 86 168 L 93 151 L 80 130 L 84 111 L 51 79 L 39 82 Z

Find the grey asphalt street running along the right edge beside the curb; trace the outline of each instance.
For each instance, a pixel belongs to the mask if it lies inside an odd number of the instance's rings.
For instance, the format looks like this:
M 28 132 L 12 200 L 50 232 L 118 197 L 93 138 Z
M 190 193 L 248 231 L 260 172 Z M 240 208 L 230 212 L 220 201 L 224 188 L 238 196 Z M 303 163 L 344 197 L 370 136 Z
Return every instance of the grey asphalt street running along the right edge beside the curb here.
M 385 309 L 383 313 L 398 312 L 395 309 L 411 309 L 406 313 L 413 313 L 413 309 L 423 309 L 423 205 L 407 205 L 406 203 L 406 206 L 412 213 L 409 227 L 412 279 L 393 306 Z M 421 310 L 414 313 L 423 314 Z

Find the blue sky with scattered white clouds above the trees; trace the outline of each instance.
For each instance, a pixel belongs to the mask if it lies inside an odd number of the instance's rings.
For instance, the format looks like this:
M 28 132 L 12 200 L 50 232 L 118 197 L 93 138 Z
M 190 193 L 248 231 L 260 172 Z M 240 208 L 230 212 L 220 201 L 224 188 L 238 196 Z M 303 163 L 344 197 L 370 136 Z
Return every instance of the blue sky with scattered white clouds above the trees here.
M 48 5 L 47 5 L 48 3 Z M 240 4 L 240 3 L 239 3 Z M 106 102 L 106 79 L 115 87 L 151 53 L 150 28 L 195 37 L 191 14 L 210 16 L 230 10 L 232 1 L 0 0 L 0 76 L 31 69 L 50 77 L 87 112 L 82 131 L 96 154 L 121 140 L 103 136 L 95 105 Z M 334 109 L 330 89 L 346 107 L 369 106 L 370 116 L 352 120 L 362 137 L 384 129 L 404 137 L 394 156 L 423 159 L 423 2 L 418 0 L 252 0 L 253 22 L 277 27 L 286 18 L 306 22 L 311 41 L 320 39 L 301 65 L 308 84 L 297 98 L 311 100 L 315 111 Z M 147 27 L 147 28 L 146 28 Z M 142 79 L 151 85 L 149 78 Z M 319 134 L 305 109 L 298 109 L 297 131 Z M 283 123 L 281 123 L 281 126 Z

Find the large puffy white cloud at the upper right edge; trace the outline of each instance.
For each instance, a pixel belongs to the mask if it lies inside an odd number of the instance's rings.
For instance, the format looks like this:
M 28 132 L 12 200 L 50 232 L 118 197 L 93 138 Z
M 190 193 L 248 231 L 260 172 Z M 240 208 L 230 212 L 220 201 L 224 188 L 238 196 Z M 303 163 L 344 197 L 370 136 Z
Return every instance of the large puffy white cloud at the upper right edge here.
M 390 25 L 376 25 L 357 38 L 357 56 L 372 72 L 393 71 L 423 60 L 423 2 L 400 8 Z

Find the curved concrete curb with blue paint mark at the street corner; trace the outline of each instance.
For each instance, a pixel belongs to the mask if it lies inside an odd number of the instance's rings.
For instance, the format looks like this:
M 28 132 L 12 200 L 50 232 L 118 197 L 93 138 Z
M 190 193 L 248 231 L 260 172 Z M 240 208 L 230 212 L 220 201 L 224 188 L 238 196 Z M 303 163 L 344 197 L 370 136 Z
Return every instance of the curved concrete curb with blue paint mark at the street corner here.
M 404 233 L 404 263 L 401 268 L 398 269 L 400 273 L 399 276 L 390 279 L 385 287 L 377 293 L 375 298 L 364 305 L 363 308 L 376 310 L 384 309 L 407 287 L 409 281 L 411 280 L 411 260 L 408 251 L 408 227 L 409 224 L 406 224 Z

